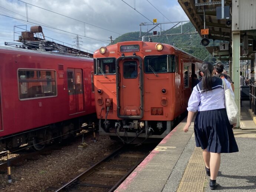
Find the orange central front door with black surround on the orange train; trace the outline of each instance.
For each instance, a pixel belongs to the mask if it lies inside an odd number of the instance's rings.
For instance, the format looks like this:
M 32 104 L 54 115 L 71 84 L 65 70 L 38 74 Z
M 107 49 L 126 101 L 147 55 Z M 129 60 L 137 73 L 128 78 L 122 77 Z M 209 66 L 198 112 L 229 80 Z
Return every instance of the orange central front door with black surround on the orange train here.
M 138 58 L 138 57 L 137 57 Z M 118 105 L 121 118 L 142 117 L 141 59 L 124 59 L 118 62 Z

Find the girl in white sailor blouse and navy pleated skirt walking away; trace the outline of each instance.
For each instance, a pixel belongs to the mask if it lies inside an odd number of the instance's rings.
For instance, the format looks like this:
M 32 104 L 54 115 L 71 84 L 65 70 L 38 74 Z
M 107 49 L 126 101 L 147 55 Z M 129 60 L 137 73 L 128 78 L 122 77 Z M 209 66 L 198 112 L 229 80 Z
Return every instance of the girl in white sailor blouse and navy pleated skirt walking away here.
M 217 188 L 220 153 L 238 152 L 238 147 L 227 117 L 222 79 L 214 76 L 215 71 L 211 63 L 204 63 L 201 70 L 203 79 L 191 93 L 187 107 L 187 123 L 183 130 L 185 133 L 188 131 L 194 113 L 198 111 L 194 122 L 196 146 L 203 150 L 206 173 L 210 176 L 210 189 L 214 190 Z M 233 93 L 227 79 L 225 82 Z

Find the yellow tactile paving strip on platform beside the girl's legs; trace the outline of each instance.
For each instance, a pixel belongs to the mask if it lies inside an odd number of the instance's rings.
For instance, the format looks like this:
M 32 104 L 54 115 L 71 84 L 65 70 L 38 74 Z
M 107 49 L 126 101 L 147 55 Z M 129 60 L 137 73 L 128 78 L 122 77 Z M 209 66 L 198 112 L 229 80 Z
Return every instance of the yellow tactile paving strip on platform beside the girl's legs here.
M 201 192 L 206 175 L 202 149 L 195 148 L 177 192 Z

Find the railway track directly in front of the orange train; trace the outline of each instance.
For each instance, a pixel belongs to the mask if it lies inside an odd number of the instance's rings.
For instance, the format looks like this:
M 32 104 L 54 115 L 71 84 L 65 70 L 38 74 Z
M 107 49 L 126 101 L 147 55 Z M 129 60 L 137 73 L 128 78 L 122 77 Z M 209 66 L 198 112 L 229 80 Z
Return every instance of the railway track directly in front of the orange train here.
M 61 188 L 50 188 L 55 192 L 63 191 L 114 191 L 127 176 L 154 149 L 155 145 L 125 145 L 92 165 Z M 47 190 L 50 190 L 47 189 Z

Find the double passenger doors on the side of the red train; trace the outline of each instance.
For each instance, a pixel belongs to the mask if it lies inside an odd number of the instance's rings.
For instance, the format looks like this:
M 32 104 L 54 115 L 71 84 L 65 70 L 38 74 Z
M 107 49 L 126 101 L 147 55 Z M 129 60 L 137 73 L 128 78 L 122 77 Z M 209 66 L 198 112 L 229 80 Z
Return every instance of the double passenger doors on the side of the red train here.
M 84 111 L 82 69 L 68 70 L 69 114 Z

